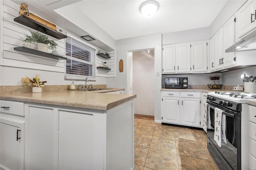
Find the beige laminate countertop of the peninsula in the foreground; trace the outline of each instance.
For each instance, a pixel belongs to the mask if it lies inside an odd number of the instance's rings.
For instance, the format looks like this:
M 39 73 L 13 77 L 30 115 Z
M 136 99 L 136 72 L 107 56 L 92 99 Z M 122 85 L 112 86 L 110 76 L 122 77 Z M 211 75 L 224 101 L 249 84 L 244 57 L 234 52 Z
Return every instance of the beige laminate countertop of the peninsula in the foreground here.
M 102 92 L 105 91 L 108 92 L 110 90 L 102 90 Z M 50 91 L 42 93 L 14 93 L 0 95 L 1 100 L 99 110 L 111 109 L 134 98 L 136 98 L 136 95 L 132 94 L 105 94 L 93 93 L 92 91 Z

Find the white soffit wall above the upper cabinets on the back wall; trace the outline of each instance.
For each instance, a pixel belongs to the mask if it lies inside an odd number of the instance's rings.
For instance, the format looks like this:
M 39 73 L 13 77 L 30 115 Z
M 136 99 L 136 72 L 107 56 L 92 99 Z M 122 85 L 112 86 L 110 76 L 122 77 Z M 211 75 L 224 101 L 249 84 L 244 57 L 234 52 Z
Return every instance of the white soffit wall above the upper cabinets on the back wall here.
M 209 27 L 162 34 L 162 45 L 209 40 Z

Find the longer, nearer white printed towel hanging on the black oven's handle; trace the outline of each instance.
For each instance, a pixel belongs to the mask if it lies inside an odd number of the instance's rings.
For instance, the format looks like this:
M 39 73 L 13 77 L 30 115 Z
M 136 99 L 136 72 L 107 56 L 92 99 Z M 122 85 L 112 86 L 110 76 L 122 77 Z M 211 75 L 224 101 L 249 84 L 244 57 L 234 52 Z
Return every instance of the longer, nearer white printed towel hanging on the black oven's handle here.
M 214 109 L 214 140 L 221 147 L 221 119 L 222 119 L 222 110 L 215 108 Z

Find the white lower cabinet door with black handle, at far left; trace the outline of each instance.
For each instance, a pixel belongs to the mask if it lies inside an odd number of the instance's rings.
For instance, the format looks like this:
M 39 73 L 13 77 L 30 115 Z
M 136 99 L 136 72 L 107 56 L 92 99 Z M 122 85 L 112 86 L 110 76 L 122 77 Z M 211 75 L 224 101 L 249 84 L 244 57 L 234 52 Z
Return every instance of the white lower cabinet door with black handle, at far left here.
M 24 126 L 25 122 L 0 119 L 0 167 L 24 170 Z

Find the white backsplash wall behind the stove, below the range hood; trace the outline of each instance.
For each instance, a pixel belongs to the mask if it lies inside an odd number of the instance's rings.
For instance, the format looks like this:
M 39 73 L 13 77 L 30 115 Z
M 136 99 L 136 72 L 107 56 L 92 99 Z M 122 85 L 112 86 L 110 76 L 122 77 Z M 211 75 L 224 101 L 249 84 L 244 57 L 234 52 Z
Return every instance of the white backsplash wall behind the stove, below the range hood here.
M 234 71 L 228 71 L 222 73 L 222 83 L 224 85 L 244 85 L 243 79 L 241 79 L 241 75 L 245 74 L 250 77 L 256 76 L 256 66 L 248 67 L 244 69 L 238 69 Z

